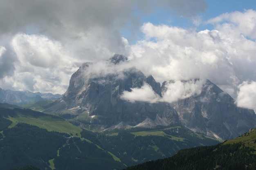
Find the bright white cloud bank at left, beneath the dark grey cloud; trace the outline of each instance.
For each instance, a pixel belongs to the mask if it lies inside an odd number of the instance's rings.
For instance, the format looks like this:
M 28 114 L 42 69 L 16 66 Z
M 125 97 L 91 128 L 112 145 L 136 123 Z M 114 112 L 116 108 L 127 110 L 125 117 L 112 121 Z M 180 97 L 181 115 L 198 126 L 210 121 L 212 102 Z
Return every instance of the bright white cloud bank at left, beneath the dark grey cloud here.
M 73 58 L 60 42 L 43 35 L 17 34 L 13 37 L 11 49 L 4 49 L 6 55 L 3 68 L 12 74 L 2 78 L 2 88 L 16 90 L 60 93 L 67 89 L 70 75 L 81 62 Z M 10 60 L 11 56 L 13 60 Z M 10 64 L 8 62 L 12 61 Z M 8 68 L 8 69 L 7 69 Z M 8 72 L 8 73 L 9 73 Z M 2 74 L 4 72 L 1 72 Z

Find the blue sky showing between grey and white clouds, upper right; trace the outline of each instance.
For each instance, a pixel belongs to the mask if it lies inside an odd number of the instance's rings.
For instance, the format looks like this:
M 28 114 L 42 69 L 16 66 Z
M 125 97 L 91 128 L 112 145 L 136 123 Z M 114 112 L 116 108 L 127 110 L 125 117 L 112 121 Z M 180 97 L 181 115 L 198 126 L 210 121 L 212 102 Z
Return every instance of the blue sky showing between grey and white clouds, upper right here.
M 181 16 L 168 8 L 157 8 L 153 9 L 152 13 L 144 14 L 140 19 L 140 24 L 144 22 L 151 22 L 155 25 L 167 24 L 171 26 L 178 26 L 185 29 L 193 28 L 198 31 L 204 29 L 213 29 L 213 25 L 205 24 L 203 22 L 214 18 L 223 13 L 231 13 L 234 11 L 241 11 L 248 9 L 256 10 L 256 0 L 205 0 L 207 3 L 207 8 L 203 12 L 198 12 L 197 15 L 193 17 L 184 17 Z M 134 12 L 135 15 L 139 12 Z M 193 23 L 194 19 L 200 18 L 202 23 L 195 25 Z M 128 24 L 128 29 L 121 29 L 121 33 L 127 39 L 130 39 L 132 42 L 136 42 L 136 39 L 143 37 L 143 34 L 136 32 L 137 37 L 132 36 L 130 33 L 130 27 L 132 24 Z

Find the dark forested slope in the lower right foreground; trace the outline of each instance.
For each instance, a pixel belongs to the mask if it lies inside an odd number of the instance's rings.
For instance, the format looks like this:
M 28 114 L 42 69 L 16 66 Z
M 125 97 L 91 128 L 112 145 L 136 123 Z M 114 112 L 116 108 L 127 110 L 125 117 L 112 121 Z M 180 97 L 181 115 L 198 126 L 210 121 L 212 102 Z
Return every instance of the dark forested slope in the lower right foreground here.
M 215 146 L 180 150 L 173 157 L 125 170 L 255 170 L 256 129 Z

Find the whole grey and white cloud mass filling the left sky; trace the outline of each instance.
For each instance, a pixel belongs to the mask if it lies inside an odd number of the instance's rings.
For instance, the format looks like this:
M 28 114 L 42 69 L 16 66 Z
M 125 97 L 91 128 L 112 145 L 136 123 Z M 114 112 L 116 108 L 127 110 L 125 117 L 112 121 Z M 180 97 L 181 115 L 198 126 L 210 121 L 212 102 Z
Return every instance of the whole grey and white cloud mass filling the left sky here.
M 120 32 L 136 32 L 141 16 L 165 7 L 188 9 L 178 15 L 189 17 L 205 9 L 202 2 L 0 0 L 0 86 L 62 94 L 83 62 L 128 55 Z

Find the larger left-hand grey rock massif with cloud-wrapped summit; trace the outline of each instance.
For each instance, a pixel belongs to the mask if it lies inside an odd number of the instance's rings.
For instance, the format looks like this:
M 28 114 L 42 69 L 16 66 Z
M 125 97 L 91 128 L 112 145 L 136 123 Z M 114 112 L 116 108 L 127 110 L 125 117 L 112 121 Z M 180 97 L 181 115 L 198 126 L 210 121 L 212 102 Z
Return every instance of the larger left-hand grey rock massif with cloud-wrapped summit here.
M 115 55 L 110 60 L 113 64 L 127 61 L 123 55 Z M 70 86 L 63 95 L 67 109 L 81 108 L 90 116 L 97 116 L 95 124 L 107 127 L 125 122 L 130 126 L 151 119 L 155 125 L 180 125 L 177 112 L 166 103 L 150 104 L 146 102 L 127 102 L 120 99 L 124 91 L 141 88 L 148 83 L 155 93 L 161 95 L 161 85 L 152 76 L 146 77 L 136 68 L 130 68 L 118 74 L 104 77 L 84 76 L 90 69 L 90 63 L 83 64 L 70 79 Z M 120 77 L 120 74 L 122 75 Z

